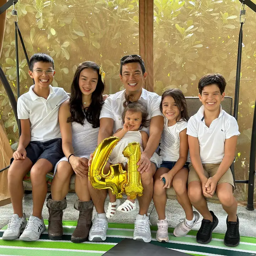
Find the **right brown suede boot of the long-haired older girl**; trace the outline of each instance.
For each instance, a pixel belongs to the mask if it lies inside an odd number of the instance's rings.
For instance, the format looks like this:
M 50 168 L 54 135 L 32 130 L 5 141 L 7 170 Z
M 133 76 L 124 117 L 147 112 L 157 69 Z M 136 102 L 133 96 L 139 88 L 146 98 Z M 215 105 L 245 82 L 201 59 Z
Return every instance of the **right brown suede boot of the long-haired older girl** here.
M 75 231 L 71 236 L 71 242 L 80 243 L 88 240 L 89 231 L 92 226 L 92 201 L 82 202 L 76 200 L 74 208 L 79 210 L 79 219 Z

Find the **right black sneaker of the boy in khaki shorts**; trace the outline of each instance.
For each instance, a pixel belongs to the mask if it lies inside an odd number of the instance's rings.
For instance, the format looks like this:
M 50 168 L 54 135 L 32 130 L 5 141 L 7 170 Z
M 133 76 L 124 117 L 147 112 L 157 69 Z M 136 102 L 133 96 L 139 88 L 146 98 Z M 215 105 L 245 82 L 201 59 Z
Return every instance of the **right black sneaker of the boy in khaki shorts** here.
M 240 243 L 239 219 L 237 219 L 237 222 L 229 222 L 227 217 L 226 224 L 227 231 L 224 237 L 224 244 L 229 247 L 236 247 Z

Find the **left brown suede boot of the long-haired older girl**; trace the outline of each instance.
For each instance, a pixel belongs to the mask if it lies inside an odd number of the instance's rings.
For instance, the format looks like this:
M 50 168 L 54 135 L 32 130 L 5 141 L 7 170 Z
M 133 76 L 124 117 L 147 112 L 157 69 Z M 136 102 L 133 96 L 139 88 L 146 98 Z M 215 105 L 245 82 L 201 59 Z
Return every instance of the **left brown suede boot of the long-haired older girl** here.
M 49 209 L 48 237 L 51 240 L 60 240 L 63 235 L 62 216 L 67 206 L 66 198 L 62 201 L 54 201 L 49 194 L 46 206 Z

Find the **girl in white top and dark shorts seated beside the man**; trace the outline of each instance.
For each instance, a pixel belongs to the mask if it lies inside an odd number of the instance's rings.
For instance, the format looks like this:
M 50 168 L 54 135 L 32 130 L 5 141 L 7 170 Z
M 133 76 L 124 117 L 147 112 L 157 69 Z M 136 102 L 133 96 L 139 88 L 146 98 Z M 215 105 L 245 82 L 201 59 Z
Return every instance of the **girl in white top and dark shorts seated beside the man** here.
M 165 116 L 165 126 L 160 140 L 160 157 L 162 164 L 154 176 L 153 201 L 158 213 L 159 242 L 169 241 L 168 222 L 165 216 L 167 201 L 166 188 L 174 187 L 177 200 L 185 211 L 186 218 L 174 229 L 175 236 L 185 236 L 196 224 L 199 214 L 193 212 L 187 193 L 188 112 L 186 99 L 180 89 L 168 89 L 162 94 L 160 110 Z

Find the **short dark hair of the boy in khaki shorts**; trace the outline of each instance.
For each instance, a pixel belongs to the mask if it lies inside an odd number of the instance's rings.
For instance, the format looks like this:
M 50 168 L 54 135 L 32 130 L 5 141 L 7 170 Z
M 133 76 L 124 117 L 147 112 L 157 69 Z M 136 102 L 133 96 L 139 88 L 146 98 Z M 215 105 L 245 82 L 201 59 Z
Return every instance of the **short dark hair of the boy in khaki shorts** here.
M 216 84 L 220 89 L 220 94 L 223 94 L 226 87 L 226 80 L 221 74 L 206 74 L 198 82 L 199 94 L 202 94 L 203 88 L 207 85 Z

